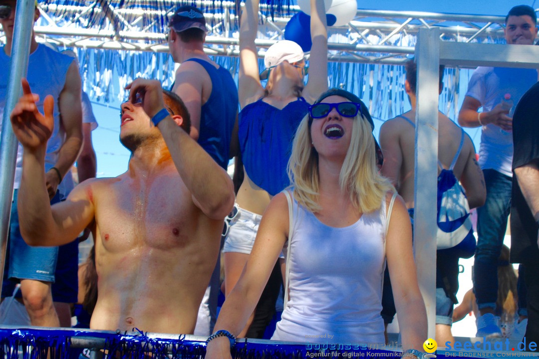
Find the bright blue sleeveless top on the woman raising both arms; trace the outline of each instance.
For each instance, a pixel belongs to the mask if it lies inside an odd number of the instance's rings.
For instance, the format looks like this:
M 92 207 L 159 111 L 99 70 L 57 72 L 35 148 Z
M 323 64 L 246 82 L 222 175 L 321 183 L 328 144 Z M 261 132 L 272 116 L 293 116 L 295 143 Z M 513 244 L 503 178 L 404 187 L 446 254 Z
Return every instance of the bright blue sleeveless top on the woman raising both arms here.
M 292 139 L 308 107 L 303 97 L 282 110 L 260 99 L 239 113 L 238 136 L 245 171 L 255 185 L 272 196 L 290 184 L 286 166 Z

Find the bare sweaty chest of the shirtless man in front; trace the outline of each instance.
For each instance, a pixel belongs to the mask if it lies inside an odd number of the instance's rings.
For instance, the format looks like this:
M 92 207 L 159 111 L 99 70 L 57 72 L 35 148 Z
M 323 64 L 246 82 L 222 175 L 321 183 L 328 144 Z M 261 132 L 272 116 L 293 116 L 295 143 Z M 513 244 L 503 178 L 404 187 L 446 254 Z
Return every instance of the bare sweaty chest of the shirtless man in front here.
M 167 251 L 189 245 L 197 209 L 183 183 L 174 183 L 126 181 L 101 196 L 95 219 L 103 248 L 108 252 Z

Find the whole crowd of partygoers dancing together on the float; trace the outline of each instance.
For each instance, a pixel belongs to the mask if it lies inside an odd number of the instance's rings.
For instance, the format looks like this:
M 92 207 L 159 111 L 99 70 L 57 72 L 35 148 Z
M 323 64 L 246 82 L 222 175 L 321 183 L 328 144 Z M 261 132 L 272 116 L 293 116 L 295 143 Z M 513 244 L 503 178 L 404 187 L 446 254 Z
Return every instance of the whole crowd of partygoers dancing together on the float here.
M 7 41 L 0 112 L 15 6 L 0 0 Z M 264 336 L 282 293 L 272 339 L 327 341 L 317 334 L 331 333 L 335 343 L 383 344 L 397 314 L 404 355 L 423 356 L 427 315 L 412 241 L 416 64 L 405 65 L 411 110 L 383 124 L 378 144 L 360 98 L 328 89 L 323 2 L 310 0 L 307 82 L 305 54 L 293 41 L 269 47 L 260 72 L 258 9 L 258 0 L 247 0 L 241 16 L 238 87 L 204 52 L 202 11 L 176 9 L 167 34 L 180 64 L 175 83 L 127 86 L 120 142 L 131 156 L 115 178 L 95 178 L 95 118 L 85 110 L 77 61 L 32 34 L 23 95 L 10 114 L 20 145 L 2 290 L 10 297 L 20 283 L 32 325 L 70 326 L 66 304 L 83 301 L 92 329 L 204 335 L 206 357 L 230 357 L 237 337 Z M 536 23 L 532 8 L 515 6 L 507 44 L 533 45 Z M 481 126 L 479 160 L 464 130 L 438 112 L 439 183 L 454 178 L 468 209 L 478 208 L 473 291 L 465 299 L 481 337 L 505 334 L 499 316 L 510 311 L 515 323 L 527 318 L 526 337 L 539 341 L 537 79 L 535 69 L 476 69 L 457 120 Z M 522 263 L 526 294 L 516 290 L 514 271 L 514 285 L 501 285 L 501 293 L 492 276 L 509 212 L 511 260 Z M 94 246 L 78 271 L 73 253 L 89 233 Z M 226 300 L 217 318 L 221 252 Z M 454 341 L 452 322 L 464 313 L 464 306 L 453 312 L 463 256 L 461 248 L 437 252 L 439 343 Z

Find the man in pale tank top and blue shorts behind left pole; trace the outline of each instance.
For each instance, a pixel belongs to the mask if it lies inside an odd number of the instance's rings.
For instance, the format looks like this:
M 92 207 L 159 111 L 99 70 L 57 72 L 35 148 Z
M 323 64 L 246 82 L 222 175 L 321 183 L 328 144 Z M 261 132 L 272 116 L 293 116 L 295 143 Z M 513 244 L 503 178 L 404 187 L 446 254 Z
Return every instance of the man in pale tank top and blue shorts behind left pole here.
M 12 48 L 16 4 L 16 0 L 0 0 L 0 24 L 6 37 L 6 45 L 0 48 L 0 121 L 4 110 L 10 110 L 5 109 L 5 100 L 11 52 L 18 51 L 17 48 Z M 36 8 L 34 21 L 38 18 L 39 9 Z M 49 199 L 58 201 L 66 194 L 62 180 L 77 159 L 82 144 L 81 81 L 77 61 L 46 45 L 38 45 L 32 32 L 27 78 L 35 93 L 39 95 L 40 110 L 43 110 L 45 96 L 52 94 L 53 97 L 54 130 L 46 147 L 44 166 Z M 51 283 L 54 281 L 58 248 L 30 248 L 24 243 L 19 232 L 16 199 L 22 173 L 22 158 L 22 147 L 19 146 L 11 209 L 9 255 L 6 253 L 4 279 L 20 281 L 22 299 L 32 325 L 57 327 L 59 320 L 52 304 Z M 14 285 L 13 281 L 4 280 L 3 298 L 12 295 Z

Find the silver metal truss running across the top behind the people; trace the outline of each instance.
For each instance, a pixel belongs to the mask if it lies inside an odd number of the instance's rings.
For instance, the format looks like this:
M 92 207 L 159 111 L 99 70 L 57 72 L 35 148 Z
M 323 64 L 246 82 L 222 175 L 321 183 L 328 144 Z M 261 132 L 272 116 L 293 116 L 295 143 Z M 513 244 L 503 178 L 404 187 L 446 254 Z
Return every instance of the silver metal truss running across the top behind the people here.
M 163 0 L 157 3 L 159 8 L 155 2 L 150 6 L 147 0 L 132 0 L 128 4 L 123 8 L 118 7 L 119 0 L 40 4 L 42 17 L 34 31 L 38 41 L 59 47 L 167 52 L 167 15 L 171 15 L 177 2 Z M 197 6 L 206 10 L 206 22 L 211 24 L 206 52 L 238 56 L 236 2 L 215 5 L 213 1 L 199 0 Z M 261 15 L 263 25 L 257 45 L 269 47 L 284 38 L 285 25 L 298 11 L 298 6 L 290 6 L 275 17 Z M 267 5 L 261 6 L 261 13 L 269 13 Z M 504 20 L 502 16 L 360 9 L 348 25 L 329 28 L 329 59 L 402 64 L 406 55 L 414 53 L 419 29 L 432 27 L 439 27 L 440 39 L 444 41 L 501 43 Z M 259 55 L 262 57 L 263 53 Z

